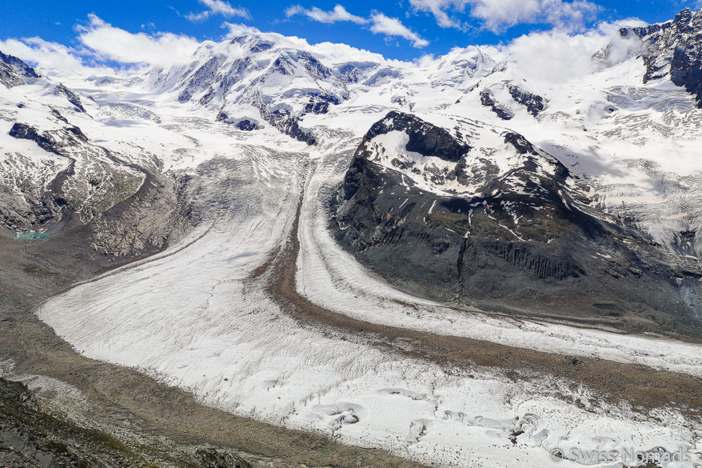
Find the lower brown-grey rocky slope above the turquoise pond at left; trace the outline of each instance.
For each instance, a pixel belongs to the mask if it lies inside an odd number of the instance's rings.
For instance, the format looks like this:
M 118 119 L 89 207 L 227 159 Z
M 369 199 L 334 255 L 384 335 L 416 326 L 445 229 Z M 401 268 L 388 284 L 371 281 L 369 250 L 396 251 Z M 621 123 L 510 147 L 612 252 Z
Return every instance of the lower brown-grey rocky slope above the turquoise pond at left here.
M 70 232 L 95 252 L 113 258 L 163 250 L 190 231 L 185 175 L 126 163 L 94 145 L 66 119 L 58 122 L 64 126 L 44 131 L 27 123 L 13 124 L 9 133 L 13 138 L 32 140 L 56 157 L 49 166 L 15 154 L 4 164 L 3 227 L 11 232 L 66 236 Z M 22 176 L 27 173 L 34 175 Z

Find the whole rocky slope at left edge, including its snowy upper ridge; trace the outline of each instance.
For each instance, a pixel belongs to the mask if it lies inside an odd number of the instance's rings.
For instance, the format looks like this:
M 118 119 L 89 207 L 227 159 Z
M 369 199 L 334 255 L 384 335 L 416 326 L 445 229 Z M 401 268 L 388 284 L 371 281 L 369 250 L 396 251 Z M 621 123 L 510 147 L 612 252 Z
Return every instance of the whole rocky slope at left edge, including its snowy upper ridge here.
M 20 146 L 0 150 L 0 230 L 51 234 L 67 246 L 80 239 L 94 255 L 129 258 L 161 250 L 190 229 L 181 175 L 100 146 L 69 121 L 86 112 L 78 95 L 18 58 L 0 54 L 0 65 L 8 90 L 42 86 L 45 96 L 10 94 L 16 110 L 0 115 Z

